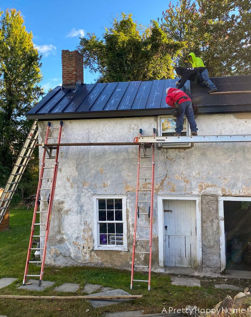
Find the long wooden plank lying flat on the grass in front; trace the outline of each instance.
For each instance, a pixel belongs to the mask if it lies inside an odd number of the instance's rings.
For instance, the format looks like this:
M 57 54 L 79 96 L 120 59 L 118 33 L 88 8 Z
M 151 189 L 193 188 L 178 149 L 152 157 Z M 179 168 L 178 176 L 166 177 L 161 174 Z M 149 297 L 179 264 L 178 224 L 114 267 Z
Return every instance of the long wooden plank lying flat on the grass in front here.
M 114 299 L 136 299 L 141 298 L 143 295 L 104 295 L 104 296 L 31 296 L 31 295 L 0 295 L 0 298 L 11 298 L 11 299 L 85 299 L 85 300 L 114 300 Z

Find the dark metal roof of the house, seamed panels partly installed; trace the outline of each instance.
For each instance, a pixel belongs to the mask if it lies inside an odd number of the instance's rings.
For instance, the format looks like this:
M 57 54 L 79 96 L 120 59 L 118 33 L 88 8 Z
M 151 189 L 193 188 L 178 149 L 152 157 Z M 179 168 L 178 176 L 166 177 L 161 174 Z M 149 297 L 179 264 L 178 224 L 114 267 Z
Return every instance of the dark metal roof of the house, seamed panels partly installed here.
M 214 78 L 219 91 L 251 90 L 251 76 Z M 75 90 L 58 86 L 28 113 L 28 119 L 85 119 L 133 117 L 171 113 L 166 88 L 176 79 L 81 84 Z M 187 81 L 186 94 L 199 106 L 199 113 L 251 111 L 250 94 L 208 95 L 207 87 Z

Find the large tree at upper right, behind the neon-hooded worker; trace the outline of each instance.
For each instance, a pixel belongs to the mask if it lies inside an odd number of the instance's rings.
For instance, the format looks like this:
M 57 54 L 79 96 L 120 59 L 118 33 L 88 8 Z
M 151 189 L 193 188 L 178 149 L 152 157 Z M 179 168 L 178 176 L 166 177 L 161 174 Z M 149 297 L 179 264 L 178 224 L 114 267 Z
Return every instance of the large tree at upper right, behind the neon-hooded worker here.
M 162 13 L 162 30 L 185 41 L 179 66 L 187 55 L 201 57 L 211 76 L 251 73 L 251 2 L 249 0 L 180 0 Z

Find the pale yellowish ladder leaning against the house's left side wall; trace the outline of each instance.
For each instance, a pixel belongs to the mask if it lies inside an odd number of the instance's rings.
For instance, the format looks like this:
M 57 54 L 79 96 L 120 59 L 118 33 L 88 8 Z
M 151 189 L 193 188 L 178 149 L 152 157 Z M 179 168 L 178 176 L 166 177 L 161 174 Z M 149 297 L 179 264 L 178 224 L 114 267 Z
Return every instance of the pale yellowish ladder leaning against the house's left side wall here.
M 3 193 L 0 197 L 0 223 L 3 220 L 3 216 L 9 207 L 10 201 L 17 189 L 17 186 L 23 176 L 23 173 L 28 165 L 28 162 L 32 156 L 34 148 L 38 142 L 38 124 L 37 120 L 33 122 L 28 137 L 26 138 L 24 145 L 19 153 L 19 156 L 15 162 L 15 165 L 11 171 L 9 179 L 4 187 Z

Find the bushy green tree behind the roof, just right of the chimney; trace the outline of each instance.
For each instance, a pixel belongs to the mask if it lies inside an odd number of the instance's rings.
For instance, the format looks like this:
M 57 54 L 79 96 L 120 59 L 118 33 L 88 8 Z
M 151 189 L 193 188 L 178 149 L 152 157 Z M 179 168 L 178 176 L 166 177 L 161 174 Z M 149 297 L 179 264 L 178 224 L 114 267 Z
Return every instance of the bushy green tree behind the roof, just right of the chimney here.
M 184 47 L 151 21 L 145 28 L 133 21 L 132 14 L 113 19 L 103 38 L 88 34 L 80 38 L 78 49 L 84 65 L 100 73 L 98 82 L 173 78 L 173 59 Z

